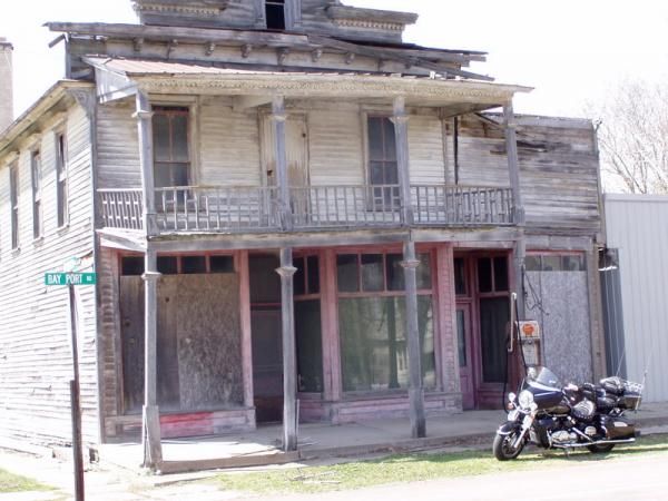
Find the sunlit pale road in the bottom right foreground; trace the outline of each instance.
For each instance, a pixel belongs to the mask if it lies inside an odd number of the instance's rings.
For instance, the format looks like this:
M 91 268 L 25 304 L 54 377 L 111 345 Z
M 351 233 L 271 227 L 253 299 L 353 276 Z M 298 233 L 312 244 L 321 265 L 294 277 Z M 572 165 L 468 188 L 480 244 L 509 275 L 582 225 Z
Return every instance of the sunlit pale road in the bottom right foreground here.
M 512 500 L 668 500 L 668 454 L 564 461 L 549 470 L 384 485 L 357 491 L 271 498 L 299 501 L 472 501 Z M 267 498 L 264 498 L 268 501 Z

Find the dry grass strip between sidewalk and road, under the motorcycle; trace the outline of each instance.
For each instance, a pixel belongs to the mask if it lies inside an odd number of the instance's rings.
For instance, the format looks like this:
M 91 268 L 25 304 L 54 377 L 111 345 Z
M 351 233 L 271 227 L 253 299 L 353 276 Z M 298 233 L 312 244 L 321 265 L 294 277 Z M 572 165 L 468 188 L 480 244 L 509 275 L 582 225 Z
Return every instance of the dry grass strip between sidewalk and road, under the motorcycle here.
M 642 438 L 636 444 L 618 446 L 609 454 L 590 454 L 587 451 L 580 451 L 567 456 L 560 451 L 536 453 L 531 450 L 521 454 L 515 461 L 500 462 L 493 458 L 490 451 L 415 453 L 330 466 L 226 473 L 216 477 L 215 481 L 218 482 L 220 489 L 254 494 L 316 493 L 397 482 L 568 465 L 573 462 L 603 461 L 640 453 L 668 453 L 668 435 Z

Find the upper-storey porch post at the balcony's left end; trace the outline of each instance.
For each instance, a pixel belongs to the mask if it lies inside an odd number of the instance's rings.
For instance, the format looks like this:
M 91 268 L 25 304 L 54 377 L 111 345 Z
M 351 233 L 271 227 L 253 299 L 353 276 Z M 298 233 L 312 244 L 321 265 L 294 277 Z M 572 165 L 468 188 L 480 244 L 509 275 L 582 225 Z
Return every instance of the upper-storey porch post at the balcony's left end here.
M 136 96 L 137 119 L 139 131 L 139 165 L 141 167 L 141 203 L 144 210 L 144 232 L 148 236 L 158 234 L 156 222 L 156 193 L 154 179 L 154 145 L 153 145 L 153 111 L 146 92 L 138 90 Z

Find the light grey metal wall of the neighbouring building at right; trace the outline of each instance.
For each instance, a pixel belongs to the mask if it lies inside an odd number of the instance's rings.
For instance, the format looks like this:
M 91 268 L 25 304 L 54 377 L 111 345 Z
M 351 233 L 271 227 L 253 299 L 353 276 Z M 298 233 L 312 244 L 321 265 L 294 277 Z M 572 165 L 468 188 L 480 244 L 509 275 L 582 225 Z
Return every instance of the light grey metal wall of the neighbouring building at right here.
M 618 249 L 627 376 L 645 400 L 668 401 L 668 196 L 606 195 L 608 247 Z

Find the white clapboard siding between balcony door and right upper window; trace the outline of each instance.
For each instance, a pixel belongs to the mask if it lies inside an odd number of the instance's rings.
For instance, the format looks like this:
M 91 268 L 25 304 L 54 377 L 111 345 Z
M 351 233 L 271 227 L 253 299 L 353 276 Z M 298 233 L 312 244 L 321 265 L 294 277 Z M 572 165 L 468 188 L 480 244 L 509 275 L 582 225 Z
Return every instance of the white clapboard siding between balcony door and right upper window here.
M 363 128 L 356 108 L 317 109 L 308 114 L 311 184 L 365 183 Z

